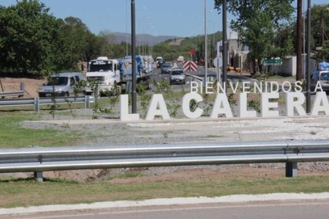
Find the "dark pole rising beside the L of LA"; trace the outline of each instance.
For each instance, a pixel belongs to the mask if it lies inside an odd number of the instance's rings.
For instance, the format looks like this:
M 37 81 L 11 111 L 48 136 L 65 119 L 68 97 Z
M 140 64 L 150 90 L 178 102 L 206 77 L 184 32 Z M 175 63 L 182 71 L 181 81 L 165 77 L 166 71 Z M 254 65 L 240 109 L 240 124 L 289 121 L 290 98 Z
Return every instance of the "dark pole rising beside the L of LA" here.
M 135 30 L 135 0 L 131 2 L 132 13 L 132 113 L 137 113 L 137 93 L 136 93 L 136 30 Z

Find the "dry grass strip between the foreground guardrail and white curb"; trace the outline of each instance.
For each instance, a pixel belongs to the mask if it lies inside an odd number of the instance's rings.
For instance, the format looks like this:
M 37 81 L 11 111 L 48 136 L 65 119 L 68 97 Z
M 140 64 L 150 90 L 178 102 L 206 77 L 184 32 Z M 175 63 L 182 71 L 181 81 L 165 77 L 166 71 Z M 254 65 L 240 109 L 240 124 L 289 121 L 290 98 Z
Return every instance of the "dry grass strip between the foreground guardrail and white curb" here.
M 119 177 L 135 177 L 135 174 Z M 217 177 L 156 182 L 114 184 L 110 181 L 77 183 L 48 179 L 44 183 L 32 179 L 0 180 L 0 207 L 47 204 L 90 203 L 95 201 L 142 200 L 172 197 L 215 197 L 233 194 L 265 194 L 276 192 L 329 192 L 329 177 L 265 178 Z

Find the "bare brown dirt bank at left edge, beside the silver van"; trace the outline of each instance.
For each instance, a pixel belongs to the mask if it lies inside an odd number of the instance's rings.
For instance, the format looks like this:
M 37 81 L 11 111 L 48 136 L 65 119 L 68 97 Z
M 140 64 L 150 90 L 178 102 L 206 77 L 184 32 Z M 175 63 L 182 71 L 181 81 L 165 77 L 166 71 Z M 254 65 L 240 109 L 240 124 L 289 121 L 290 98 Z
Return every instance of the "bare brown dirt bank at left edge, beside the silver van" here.
M 37 97 L 39 87 L 46 82 L 45 79 L 38 80 L 31 78 L 10 78 L 10 77 L 1 78 L 1 81 L 4 87 L 4 92 L 19 91 L 21 83 L 24 83 L 25 85 L 24 97 Z M 3 92 L 1 88 L 0 88 L 0 92 Z

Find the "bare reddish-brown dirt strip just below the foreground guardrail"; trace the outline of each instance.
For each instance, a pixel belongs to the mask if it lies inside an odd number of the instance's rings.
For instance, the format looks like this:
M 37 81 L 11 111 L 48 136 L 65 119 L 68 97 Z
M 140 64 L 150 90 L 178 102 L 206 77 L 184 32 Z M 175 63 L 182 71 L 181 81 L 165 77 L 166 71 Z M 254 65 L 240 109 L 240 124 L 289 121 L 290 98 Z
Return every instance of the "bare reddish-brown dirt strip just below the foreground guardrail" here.
M 265 164 L 266 165 L 266 164 Z M 150 168 L 126 168 L 126 169 L 94 169 L 94 170 L 67 170 L 44 172 L 44 177 L 61 178 L 77 182 L 97 182 L 111 179 L 114 184 L 129 184 L 143 182 L 162 182 L 171 180 L 192 180 L 192 179 L 218 179 L 218 178 L 280 178 L 284 176 L 284 168 L 271 168 L 257 164 L 223 165 L 222 167 L 194 166 L 180 167 L 175 170 L 155 173 L 155 167 Z M 140 173 L 138 177 L 115 177 L 122 173 Z M 31 174 L 32 176 L 32 174 Z M 29 176 L 29 177 L 31 177 Z M 326 170 L 299 169 L 298 176 L 329 176 Z

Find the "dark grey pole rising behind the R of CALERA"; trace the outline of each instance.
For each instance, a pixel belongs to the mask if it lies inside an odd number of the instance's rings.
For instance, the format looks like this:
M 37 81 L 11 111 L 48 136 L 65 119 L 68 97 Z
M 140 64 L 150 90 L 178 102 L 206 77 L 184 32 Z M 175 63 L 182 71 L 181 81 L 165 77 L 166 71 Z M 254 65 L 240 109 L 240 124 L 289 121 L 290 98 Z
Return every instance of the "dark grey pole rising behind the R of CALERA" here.
M 307 93 L 306 112 L 311 112 L 311 0 L 307 0 Z

